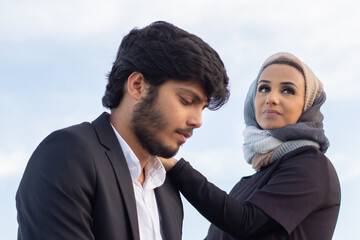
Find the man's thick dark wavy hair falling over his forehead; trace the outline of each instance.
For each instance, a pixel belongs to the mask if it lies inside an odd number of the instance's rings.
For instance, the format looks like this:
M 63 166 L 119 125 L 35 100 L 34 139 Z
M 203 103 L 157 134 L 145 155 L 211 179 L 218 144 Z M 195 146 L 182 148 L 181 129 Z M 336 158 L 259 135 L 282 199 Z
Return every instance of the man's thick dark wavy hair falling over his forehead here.
M 218 53 L 194 34 L 164 21 L 135 28 L 123 38 L 108 74 L 104 107 L 113 109 L 120 104 L 124 83 L 133 72 L 142 73 L 156 88 L 168 79 L 197 79 L 210 110 L 219 109 L 229 99 L 229 78 Z

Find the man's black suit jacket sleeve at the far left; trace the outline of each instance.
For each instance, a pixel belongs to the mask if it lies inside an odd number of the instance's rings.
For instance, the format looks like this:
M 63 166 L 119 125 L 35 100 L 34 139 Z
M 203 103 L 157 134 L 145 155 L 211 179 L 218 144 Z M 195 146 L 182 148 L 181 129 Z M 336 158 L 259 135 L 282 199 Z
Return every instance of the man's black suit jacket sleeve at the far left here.
M 35 150 L 17 195 L 18 239 L 94 239 L 95 170 L 89 148 L 58 131 Z

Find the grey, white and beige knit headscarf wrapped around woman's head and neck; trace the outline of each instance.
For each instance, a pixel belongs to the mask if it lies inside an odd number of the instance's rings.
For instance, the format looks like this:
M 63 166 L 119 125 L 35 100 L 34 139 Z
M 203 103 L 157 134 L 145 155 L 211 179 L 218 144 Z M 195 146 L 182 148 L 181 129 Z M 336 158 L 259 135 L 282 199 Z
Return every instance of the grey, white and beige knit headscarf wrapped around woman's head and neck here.
M 264 69 L 277 62 L 292 62 L 297 64 L 305 79 L 305 104 L 303 113 L 296 124 L 286 125 L 273 130 L 263 130 L 255 117 L 254 99 L 258 79 Z M 246 128 L 244 135 L 244 157 L 255 170 L 272 164 L 286 153 L 302 146 L 314 146 L 326 152 L 329 141 L 323 129 L 323 115 L 320 107 L 325 102 L 326 95 L 320 80 L 311 69 L 290 53 L 276 53 L 265 60 L 259 74 L 251 84 L 244 106 Z

